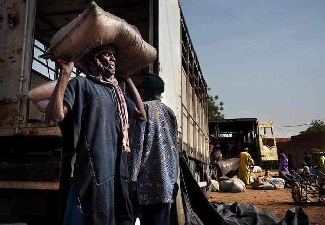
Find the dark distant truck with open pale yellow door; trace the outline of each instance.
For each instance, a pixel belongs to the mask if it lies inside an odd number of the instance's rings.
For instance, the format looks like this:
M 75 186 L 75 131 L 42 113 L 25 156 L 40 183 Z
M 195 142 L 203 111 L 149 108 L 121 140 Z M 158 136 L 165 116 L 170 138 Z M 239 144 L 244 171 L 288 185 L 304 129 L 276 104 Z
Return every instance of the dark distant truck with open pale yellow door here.
M 256 164 L 271 167 L 278 161 L 273 123 L 259 122 L 257 118 L 209 120 L 210 146 L 220 150 L 222 157 L 239 155 L 243 148 Z

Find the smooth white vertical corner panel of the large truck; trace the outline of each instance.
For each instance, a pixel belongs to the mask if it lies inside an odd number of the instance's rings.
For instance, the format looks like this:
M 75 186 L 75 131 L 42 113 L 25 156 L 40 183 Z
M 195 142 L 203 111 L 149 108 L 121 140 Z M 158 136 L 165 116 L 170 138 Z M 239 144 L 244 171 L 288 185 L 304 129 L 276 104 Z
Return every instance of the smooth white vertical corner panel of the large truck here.
M 159 76 L 164 79 L 162 101 L 170 107 L 181 131 L 181 30 L 178 1 L 159 1 Z

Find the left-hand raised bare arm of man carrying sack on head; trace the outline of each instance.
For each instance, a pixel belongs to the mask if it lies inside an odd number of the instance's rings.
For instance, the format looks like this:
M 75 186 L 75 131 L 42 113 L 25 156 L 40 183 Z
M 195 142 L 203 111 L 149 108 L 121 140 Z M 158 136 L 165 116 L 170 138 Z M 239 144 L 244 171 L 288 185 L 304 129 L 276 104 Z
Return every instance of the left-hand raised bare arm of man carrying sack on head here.
M 59 63 L 60 76 L 45 110 L 45 123 L 48 126 L 57 126 L 66 117 L 69 106 L 67 103 L 63 103 L 63 97 L 73 65 L 73 62 L 69 62 L 67 65 Z

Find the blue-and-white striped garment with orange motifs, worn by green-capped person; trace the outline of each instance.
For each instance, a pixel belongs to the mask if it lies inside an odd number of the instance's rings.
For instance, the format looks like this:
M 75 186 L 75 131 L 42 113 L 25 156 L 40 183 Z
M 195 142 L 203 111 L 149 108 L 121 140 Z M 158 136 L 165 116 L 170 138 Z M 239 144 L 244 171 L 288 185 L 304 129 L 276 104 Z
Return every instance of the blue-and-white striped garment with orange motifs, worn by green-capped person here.
M 130 123 L 129 181 L 136 185 L 140 205 L 172 203 L 178 163 L 177 120 L 159 100 L 144 102 L 144 107 L 146 121 Z

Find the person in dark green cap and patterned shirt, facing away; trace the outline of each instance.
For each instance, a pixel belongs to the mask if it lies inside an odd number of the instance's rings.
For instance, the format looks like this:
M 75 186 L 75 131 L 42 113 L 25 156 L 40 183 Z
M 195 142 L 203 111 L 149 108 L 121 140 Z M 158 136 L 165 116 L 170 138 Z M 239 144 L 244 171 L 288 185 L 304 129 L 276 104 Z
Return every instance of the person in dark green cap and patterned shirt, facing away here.
M 141 224 L 169 224 L 170 206 L 178 191 L 177 120 L 161 102 L 163 92 L 163 79 L 147 75 L 141 86 L 147 118 L 130 123 L 128 180 L 134 221 L 140 210 Z

